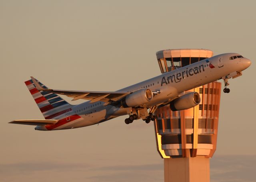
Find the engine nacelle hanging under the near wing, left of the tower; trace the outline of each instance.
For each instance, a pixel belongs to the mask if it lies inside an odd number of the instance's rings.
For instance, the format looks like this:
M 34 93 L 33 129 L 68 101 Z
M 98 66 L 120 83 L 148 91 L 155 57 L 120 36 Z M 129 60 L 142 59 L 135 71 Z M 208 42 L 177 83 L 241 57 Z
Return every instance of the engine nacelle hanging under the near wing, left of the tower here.
M 124 108 L 136 107 L 146 104 L 153 99 L 153 93 L 150 89 L 141 89 L 133 92 L 132 94 L 126 96 L 121 101 L 121 105 Z

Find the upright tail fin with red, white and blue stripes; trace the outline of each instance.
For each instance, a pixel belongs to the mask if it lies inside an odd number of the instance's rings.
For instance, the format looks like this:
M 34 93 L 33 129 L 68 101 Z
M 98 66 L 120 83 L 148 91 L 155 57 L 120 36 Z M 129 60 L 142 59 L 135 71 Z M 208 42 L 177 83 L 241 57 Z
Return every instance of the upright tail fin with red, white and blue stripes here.
M 39 84 L 42 88 L 47 89 L 47 87 L 38 80 L 36 80 L 36 82 L 36 84 Z M 25 84 L 45 119 L 60 119 L 65 117 L 66 112 L 72 110 L 72 105 L 57 94 L 45 92 L 43 89 L 39 91 L 32 80 L 26 81 Z

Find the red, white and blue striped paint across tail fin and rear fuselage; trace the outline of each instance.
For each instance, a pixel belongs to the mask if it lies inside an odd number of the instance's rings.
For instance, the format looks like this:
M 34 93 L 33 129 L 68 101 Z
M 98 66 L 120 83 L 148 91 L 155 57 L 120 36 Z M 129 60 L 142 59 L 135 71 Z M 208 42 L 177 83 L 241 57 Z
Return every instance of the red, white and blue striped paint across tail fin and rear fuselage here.
M 38 81 L 38 83 L 43 88 L 47 88 L 41 82 Z M 45 127 L 47 130 L 60 129 L 60 127 L 65 129 L 64 127 L 69 125 L 70 122 L 74 123 L 76 121 L 82 120 L 82 117 L 72 111 L 72 105 L 66 102 L 57 94 L 38 91 L 32 80 L 26 81 L 25 84 L 33 96 L 38 108 L 44 115 L 44 118 L 58 119 L 57 123 L 46 125 Z

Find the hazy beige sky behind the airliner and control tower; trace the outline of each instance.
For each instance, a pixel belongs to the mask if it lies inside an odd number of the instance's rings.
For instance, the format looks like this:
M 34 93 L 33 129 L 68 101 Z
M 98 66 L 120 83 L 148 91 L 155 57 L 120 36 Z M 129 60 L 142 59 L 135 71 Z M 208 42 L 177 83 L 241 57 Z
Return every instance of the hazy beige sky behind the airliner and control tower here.
M 8 122 L 43 119 L 24 84 L 30 76 L 50 88 L 114 91 L 160 74 L 156 51 L 205 48 L 252 61 L 222 93 L 211 159 L 212 181 L 223 181 L 222 169 L 224 181 L 252 182 L 238 159 L 256 168 L 255 7 L 249 0 L 0 0 L 0 181 L 162 181 L 152 122 L 126 125 L 124 116 L 63 131 Z

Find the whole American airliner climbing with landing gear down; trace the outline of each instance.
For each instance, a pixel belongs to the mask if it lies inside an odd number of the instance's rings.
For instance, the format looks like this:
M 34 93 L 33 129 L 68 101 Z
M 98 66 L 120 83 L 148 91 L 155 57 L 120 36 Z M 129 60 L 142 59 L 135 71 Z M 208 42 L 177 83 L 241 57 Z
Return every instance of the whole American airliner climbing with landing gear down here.
M 85 127 L 129 115 L 125 123 L 143 119 L 146 123 L 156 118 L 154 111 L 170 105 L 172 111 L 186 110 L 200 103 L 193 88 L 223 79 L 224 92 L 229 93 L 228 79 L 242 75 L 251 61 L 237 53 L 224 53 L 185 67 L 177 68 L 116 92 L 54 90 L 31 76 L 25 82 L 45 119 L 14 120 L 9 123 L 36 125 L 36 130 L 49 131 Z M 71 105 L 60 96 L 73 100 L 89 100 Z

